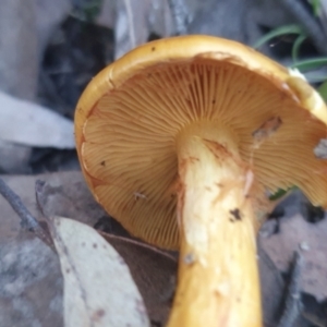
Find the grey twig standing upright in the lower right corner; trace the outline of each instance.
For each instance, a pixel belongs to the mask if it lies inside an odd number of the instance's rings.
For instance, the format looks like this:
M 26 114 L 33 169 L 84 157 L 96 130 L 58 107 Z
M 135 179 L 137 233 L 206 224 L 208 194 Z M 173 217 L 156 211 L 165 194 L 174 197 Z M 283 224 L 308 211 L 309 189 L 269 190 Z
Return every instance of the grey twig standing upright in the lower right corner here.
M 303 257 L 299 252 L 294 254 L 291 282 L 286 299 L 286 308 L 279 320 L 278 327 L 292 327 L 301 312 L 300 277 Z

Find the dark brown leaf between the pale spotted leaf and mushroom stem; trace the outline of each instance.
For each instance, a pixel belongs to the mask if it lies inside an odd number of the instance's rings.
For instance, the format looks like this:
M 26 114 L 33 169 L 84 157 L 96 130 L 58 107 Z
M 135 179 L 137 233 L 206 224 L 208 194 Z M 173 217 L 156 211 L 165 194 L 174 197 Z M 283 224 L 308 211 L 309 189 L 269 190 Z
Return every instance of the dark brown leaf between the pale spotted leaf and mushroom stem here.
M 177 258 L 131 239 L 101 233 L 124 258 L 144 299 L 150 320 L 166 326 L 175 287 Z

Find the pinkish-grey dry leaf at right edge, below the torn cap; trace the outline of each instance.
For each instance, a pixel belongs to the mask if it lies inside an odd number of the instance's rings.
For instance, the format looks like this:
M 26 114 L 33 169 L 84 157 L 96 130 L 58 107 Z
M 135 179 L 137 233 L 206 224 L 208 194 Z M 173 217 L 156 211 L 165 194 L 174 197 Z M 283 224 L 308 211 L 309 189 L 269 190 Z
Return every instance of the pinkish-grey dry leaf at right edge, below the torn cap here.
M 301 215 L 280 219 L 279 232 L 261 238 L 261 244 L 277 268 L 288 271 L 294 251 L 302 250 L 302 290 L 317 301 L 327 298 L 327 219 L 311 223 Z

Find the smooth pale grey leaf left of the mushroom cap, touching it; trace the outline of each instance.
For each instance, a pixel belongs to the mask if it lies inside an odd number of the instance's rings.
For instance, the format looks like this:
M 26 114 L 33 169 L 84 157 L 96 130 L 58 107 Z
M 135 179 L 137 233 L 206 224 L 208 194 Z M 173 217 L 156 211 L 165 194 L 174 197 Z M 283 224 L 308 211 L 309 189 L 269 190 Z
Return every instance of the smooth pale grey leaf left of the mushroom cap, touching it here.
M 74 124 L 48 108 L 0 92 L 0 140 L 37 147 L 75 147 Z

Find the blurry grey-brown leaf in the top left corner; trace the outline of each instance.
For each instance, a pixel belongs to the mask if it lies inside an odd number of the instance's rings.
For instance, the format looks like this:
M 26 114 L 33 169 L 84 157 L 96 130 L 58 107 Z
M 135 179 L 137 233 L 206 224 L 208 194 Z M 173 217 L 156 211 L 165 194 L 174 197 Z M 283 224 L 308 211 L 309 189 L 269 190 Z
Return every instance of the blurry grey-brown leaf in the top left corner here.
M 0 1 L 0 89 L 23 99 L 35 98 L 41 59 L 35 1 Z

